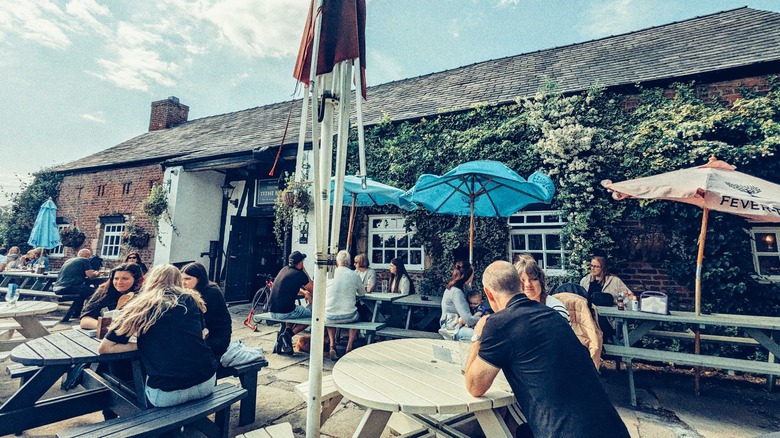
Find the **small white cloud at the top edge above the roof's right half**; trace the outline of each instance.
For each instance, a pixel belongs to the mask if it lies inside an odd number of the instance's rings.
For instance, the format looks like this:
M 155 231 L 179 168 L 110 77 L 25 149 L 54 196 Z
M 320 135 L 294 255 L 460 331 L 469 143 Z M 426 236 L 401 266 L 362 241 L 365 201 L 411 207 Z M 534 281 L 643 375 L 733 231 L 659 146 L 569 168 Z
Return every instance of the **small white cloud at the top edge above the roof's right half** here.
M 586 11 L 588 25 L 580 34 L 588 39 L 617 35 L 643 27 L 644 17 L 652 16 L 650 2 L 637 0 L 604 0 Z

